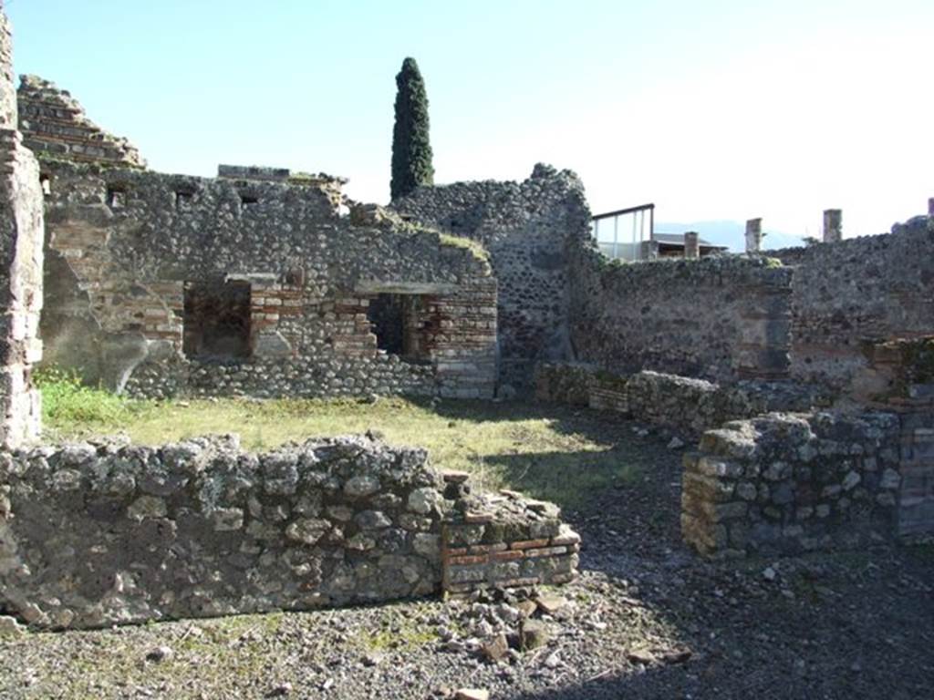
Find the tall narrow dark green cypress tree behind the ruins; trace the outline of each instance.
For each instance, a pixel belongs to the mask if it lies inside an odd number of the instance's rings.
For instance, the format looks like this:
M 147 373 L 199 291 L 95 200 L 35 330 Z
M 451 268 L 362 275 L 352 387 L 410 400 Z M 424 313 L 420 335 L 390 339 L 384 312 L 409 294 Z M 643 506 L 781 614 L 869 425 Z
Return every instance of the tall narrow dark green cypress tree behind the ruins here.
M 392 129 L 393 200 L 412 192 L 419 185 L 434 182 L 432 144 L 428 135 L 428 96 L 425 81 L 414 58 L 403 61 L 396 76 L 396 123 Z

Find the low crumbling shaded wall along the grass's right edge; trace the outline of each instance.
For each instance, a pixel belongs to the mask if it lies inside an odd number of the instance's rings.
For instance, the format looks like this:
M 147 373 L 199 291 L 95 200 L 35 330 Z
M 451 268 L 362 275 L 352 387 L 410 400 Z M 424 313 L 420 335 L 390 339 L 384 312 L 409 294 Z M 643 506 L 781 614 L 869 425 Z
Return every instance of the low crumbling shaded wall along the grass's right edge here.
M 686 436 L 700 436 L 731 420 L 809 411 L 829 402 L 815 387 L 789 382 L 741 380 L 717 385 L 656 371 L 626 375 L 560 363 L 539 365 L 535 376 L 537 399 L 615 411 Z

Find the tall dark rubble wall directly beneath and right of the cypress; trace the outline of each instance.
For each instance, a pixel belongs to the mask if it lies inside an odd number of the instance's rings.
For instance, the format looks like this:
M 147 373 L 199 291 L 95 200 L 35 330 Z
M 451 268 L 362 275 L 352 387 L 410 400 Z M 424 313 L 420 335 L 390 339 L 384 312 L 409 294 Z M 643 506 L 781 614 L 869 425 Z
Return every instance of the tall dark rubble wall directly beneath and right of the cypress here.
M 423 187 L 393 207 L 488 249 L 499 282 L 503 382 L 528 385 L 535 360 L 571 357 L 567 246 L 586 240 L 590 227 L 576 175 L 540 164 L 521 183 Z

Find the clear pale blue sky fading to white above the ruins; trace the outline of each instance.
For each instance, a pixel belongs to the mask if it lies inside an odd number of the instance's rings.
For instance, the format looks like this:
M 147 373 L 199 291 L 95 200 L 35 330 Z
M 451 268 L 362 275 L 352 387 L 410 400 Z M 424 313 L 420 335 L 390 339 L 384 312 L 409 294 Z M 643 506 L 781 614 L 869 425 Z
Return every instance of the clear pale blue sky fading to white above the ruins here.
M 7 0 L 16 70 L 152 168 L 350 178 L 389 198 L 417 59 L 436 181 L 581 175 L 595 213 L 887 231 L 934 196 L 934 0 Z

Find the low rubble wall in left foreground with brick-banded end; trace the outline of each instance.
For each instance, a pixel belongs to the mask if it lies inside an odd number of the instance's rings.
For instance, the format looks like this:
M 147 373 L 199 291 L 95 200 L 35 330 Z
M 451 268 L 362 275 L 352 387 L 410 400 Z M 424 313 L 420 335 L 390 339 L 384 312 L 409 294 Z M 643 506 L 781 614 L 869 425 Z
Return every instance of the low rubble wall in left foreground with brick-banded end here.
M 0 455 L 0 484 L 0 609 L 36 628 L 372 603 L 443 580 L 459 593 L 502 571 L 558 583 L 576 568 L 551 504 L 471 496 L 424 450 L 368 437 L 262 455 L 235 436 L 43 446 Z M 502 571 L 452 558 L 488 542 L 514 553 Z

